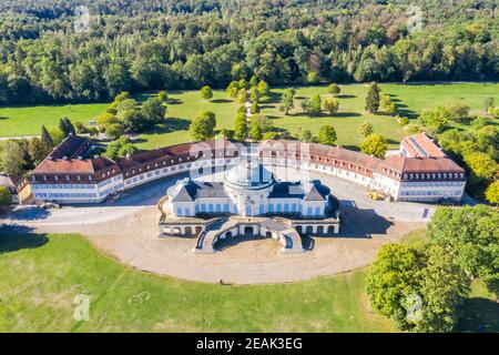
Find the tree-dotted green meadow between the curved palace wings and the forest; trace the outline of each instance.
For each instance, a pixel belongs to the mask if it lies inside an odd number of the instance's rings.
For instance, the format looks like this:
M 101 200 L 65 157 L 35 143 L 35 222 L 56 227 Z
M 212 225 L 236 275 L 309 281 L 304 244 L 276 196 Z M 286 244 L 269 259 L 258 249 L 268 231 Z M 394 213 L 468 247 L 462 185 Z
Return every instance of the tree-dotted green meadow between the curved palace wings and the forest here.
M 312 94 L 319 93 L 326 97 L 326 85 L 296 87 L 295 109 L 289 115 L 284 115 L 278 110 L 284 88 L 274 88 L 271 98 L 262 102 L 262 113 L 272 120 L 274 126 L 287 130 L 292 135 L 306 129 L 316 134 L 322 125 L 332 124 L 337 131 L 337 144 L 346 148 L 358 148 L 363 141 L 359 126 L 364 121 L 369 121 L 373 123 L 375 132 L 383 134 L 388 140 L 390 148 L 396 148 L 404 136 L 396 119 L 384 114 L 374 115 L 364 111 L 367 85 L 347 84 L 340 85 L 340 88 L 342 93 L 337 97 L 339 111 L 333 116 L 326 114 L 307 116 L 303 114 L 299 105 L 302 99 Z M 493 97 L 496 104 L 499 104 L 499 83 L 380 84 L 380 88 L 384 92 L 393 95 L 401 114 L 413 120 L 417 119 L 424 109 L 455 101 L 468 104 L 471 114 L 482 113 L 482 103 L 488 97 Z M 150 94 L 138 95 L 138 99 L 145 100 Z M 136 143 L 140 148 L 154 149 L 191 141 L 189 124 L 192 119 L 206 110 L 215 113 L 218 130 L 233 129 L 238 104 L 228 100 L 225 91 L 214 91 L 214 98 L 211 101 L 201 99 L 197 91 L 170 92 L 170 97 L 173 102 L 169 105 L 167 119 L 164 124 L 139 136 Z M 41 124 L 49 128 L 57 126 L 61 116 L 88 123 L 89 120 L 94 120 L 104 112 L 105 108 L 105 103 L 0 108 L 0 136 L 39 134 Z

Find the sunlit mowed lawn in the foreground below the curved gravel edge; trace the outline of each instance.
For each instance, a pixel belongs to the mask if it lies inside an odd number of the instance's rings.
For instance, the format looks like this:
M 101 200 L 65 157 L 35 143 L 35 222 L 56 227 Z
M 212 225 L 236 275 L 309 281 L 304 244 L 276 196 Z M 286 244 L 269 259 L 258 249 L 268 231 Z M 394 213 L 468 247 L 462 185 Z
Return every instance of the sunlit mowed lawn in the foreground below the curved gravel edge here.
M 366 276 L 194 283 L 128 268 L 80 235 L 0 235 L 0 332 L 395 332 L 370 308 Z M 73 317 L 80 294 L 90 297 L 89 321 Z M 459 331 L 479 326 L 499 332 L 499 314 L 475 284 Z

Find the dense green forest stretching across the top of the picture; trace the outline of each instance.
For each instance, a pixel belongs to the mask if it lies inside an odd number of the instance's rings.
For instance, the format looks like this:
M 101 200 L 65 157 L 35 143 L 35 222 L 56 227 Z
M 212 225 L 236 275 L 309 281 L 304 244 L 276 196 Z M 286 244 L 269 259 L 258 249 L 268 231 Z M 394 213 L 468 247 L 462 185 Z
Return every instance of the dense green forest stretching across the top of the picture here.
M 4 0 L 0 105 L 253 75 L 271 85 L 496 81 L 496 13 L 495 0 Z

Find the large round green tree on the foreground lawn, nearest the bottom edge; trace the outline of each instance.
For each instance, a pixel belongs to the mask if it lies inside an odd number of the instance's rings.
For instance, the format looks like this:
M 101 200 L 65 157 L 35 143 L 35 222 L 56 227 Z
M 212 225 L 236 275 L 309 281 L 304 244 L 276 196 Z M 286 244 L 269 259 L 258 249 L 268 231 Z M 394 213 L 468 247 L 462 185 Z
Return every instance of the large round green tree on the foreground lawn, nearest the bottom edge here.
M 384 245 L 369 267 L 367 294 L 374 308 L 400 329 L 450 332 L 469 280 L 440 246 Z

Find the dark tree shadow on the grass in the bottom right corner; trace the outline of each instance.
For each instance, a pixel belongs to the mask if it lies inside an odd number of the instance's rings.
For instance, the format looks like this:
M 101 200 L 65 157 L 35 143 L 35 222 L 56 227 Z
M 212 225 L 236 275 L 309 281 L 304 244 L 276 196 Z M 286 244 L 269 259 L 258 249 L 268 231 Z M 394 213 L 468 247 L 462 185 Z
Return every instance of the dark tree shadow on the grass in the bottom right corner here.
M 483 297 L 465 301 L 457 332 L 499 332 L 499 303 Z

